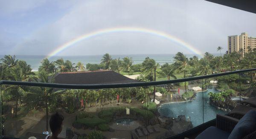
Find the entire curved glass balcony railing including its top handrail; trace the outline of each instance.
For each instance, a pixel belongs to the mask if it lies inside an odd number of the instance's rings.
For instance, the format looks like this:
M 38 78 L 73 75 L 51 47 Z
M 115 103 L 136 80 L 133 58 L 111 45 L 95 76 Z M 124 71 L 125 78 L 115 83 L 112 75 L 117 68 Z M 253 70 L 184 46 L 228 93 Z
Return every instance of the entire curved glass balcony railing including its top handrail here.
M 60 138 L 169 138 L 216 114 L 232 116 L 233 108 L 256 97 L 255 71 L 97 85 L 0 81 L 1 132 L 43 139 L 51 134 L 50 115 L 58 112 L 64 116 Z

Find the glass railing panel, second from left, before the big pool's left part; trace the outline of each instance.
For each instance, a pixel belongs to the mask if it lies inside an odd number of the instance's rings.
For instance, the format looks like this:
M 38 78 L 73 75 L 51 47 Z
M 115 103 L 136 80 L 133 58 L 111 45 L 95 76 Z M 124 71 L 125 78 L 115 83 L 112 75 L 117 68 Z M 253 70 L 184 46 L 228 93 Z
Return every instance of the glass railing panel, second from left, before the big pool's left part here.
M 191 82 L 186 82 L 186 87 L 185 82 L 160 87 L 167 89 L 162 97 L 156 97 L 160 100 L 157 106 L 161 128 L 174 136 L 203 123 L 202 97 L 191 90 Z

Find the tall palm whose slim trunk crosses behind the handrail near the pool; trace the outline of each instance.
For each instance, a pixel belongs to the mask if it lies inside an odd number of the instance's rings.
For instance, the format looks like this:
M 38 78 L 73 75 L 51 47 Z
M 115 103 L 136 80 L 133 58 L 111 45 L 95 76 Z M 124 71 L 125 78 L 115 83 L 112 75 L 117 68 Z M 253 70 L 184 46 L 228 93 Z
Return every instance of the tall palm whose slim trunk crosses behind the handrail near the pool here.
M 175 57 L 174 57 L 174 60 L 175 60 L 175 67 L 177 67 L 178 70 L 180 71 L 183 71 L 184 72 L 184 78 L 186 78 L 186 70 L 188 68 L 188 58 L 186 58 L 186 56 L 181 53 L 181 52 L 178 52 Z M 185 93 L 186 93 L 186 82 L 185 82 Z

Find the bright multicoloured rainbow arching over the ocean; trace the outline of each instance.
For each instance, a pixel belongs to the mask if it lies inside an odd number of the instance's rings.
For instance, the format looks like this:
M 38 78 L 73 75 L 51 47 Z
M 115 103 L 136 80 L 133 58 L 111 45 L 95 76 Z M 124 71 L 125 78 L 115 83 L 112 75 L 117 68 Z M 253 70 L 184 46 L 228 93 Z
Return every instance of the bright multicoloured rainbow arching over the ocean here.
M 115 33 L 115 32 L 138 32 L 138 33 L 148 33 L 151 35 L 156 35 L 156 36 L 159 36 L 159 37 L 162 37 L 165 39 L 169 39 L 170 41 L 175 42 L 175 43 L 179 44 L 180 46 L 183 46 L 183 47 L 189 49 L 192 53 L 198 54 L 203 57 L 202 53 L 199 50 L 197 50 L 195 47 L 193 47 L 192 45 L 190 45 L 190 44 L 184 42 L 183 40 L 181 40 L 175 36 L 172 36 L 170 34 L 167 34 L 167 33 L 161 32 L 161 31 L 148 29 L 148 28 L 120 27 L 120 28 L 105 28 L 105 29 L 93 31 L 93 32 L 81 35 L 79 37 L 76 37 L 76 38 L 70 40 L 69 42 L 66 42 L 63 45 L 58 46 L 54 51 L 52 51 L 51 53 L 48 54 L 47 58 L 51 58 L 52 56 L 58 55 L 62 51 L 66 50 L 67 48 L 73 46 L 77 42 L 80 42 L 84 39 L 89 39 L 89 38 L 92 38 L 94 36 L 98 36 L 101 34 Z

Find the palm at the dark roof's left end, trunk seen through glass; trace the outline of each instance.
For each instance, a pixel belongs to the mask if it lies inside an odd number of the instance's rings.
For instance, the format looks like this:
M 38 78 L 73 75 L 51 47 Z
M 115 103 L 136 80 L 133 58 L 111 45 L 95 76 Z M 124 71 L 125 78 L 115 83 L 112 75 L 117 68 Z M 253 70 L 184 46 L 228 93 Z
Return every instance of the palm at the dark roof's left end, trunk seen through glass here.
M 49 78 L 47 75 L 47 72 L 42 70 L 38 73 L 38 77 L 34 78 L 37 82 L 42 83 L 52 83 L 53 76 Z M 49 131 L 49 102 L 56 101 L 53 98 L 54 95 L 63 92 L 64 90 L 55 90 L 54 88 L 47 88 L 47 87 L 32 87 L 31 89 L 33 92 L 29 92 L 30 95 L 34 95 L 37 98 L 41 98 L 45 102 L 45 108 L 46 108 L 46 130 Z

